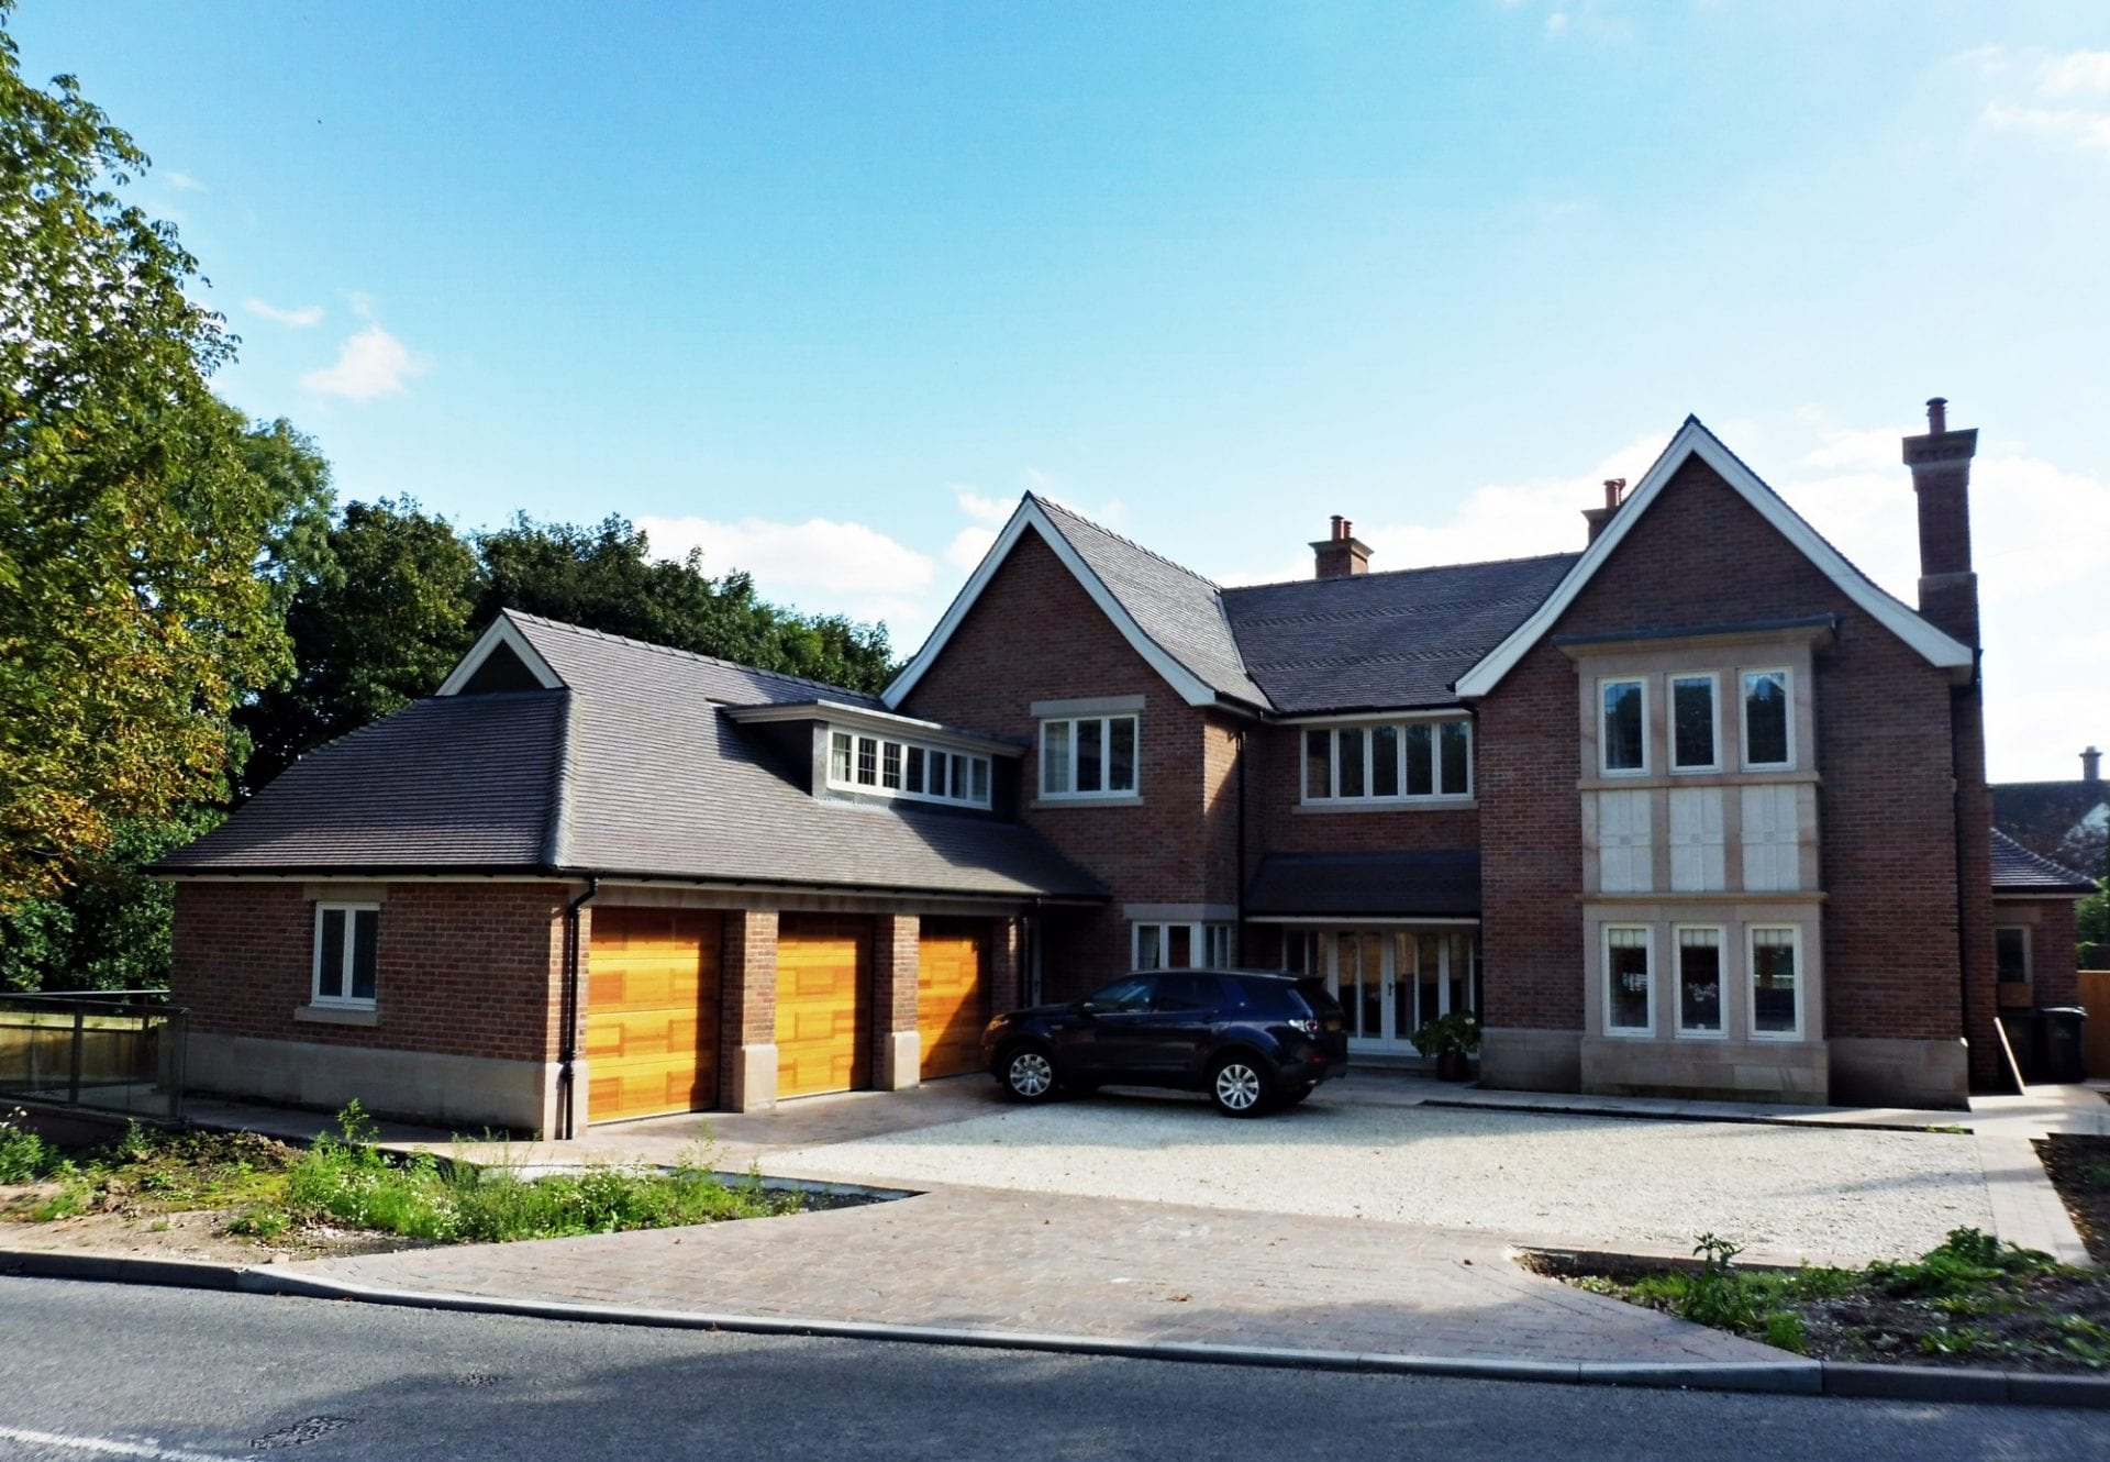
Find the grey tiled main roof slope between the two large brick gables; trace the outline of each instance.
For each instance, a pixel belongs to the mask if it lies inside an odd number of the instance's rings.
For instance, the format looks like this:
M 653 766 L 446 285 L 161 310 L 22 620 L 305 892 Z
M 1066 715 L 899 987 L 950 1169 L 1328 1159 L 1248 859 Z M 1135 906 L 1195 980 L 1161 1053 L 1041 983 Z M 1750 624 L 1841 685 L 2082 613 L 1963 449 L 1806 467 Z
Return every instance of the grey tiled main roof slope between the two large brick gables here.
M 1285 713 L 1456 705 L 1452 681 L 1509 637 L 1578 553 L 1226 589 L 1224 610 Z

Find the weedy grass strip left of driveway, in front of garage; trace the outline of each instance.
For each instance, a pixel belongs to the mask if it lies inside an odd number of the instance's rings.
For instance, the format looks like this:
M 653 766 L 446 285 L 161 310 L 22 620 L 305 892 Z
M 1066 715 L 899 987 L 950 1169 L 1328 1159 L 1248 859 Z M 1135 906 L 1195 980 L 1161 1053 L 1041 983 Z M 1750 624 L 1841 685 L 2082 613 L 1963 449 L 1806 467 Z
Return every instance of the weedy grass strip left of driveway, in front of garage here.
M 17 1135 L 8 1135 L 17 1133 Z M 304 1226 L 338 1226 L 430 1243 L 506 1243 L 673 1228 L 795 1213 L 800 1194 L 774 1194 L 753 1173 L 728 1184 L 709 1150 L 671 1171 L 595 1165 L 540 1179 L 509 1169 L 390 1154 L 373 1146 L 359 1103 L 338 1114 L 338 1135 L 306 1152 L 253 1133 L 150 1133 L 68 1160 L 34 1133 L 0 1131 L 0 1156 L 34 1184 L 6 1217 L 49 1221 L 76 1213 L 165 1215 L 232 1211 L 226 1232 L 272 1240 Z M 40 1143 L 32 1150 L 30 1143 Z

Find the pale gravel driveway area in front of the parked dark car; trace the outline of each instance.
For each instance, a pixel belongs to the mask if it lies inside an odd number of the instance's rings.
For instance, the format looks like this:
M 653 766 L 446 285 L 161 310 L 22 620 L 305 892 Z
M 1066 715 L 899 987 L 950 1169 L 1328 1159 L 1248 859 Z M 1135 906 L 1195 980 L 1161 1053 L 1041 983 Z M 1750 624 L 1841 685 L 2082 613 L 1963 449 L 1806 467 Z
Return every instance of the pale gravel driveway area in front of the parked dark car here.
M 1101 1095 L 772 1154 L 774 1171 L 979 1184 L 1673 1247 L 1715 1232 L 1789 1257 L 1916 1255 L 1992 1230 L 1971 1137 L 1658 1122 L 1312 1099 L 1228 1120 Z

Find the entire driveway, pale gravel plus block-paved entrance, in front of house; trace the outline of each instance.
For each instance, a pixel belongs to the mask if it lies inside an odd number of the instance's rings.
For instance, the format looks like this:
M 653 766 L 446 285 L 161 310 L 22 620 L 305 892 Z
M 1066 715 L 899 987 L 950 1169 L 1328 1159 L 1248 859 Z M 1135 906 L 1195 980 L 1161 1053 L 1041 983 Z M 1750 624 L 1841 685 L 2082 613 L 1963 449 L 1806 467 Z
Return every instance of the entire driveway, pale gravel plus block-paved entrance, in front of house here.
M 692 1314 L 1692 1363 L 1779 1352 L 1528 1274 L 1509 1243 L 1686 1251 L 1711 1226 L 1753 1249 L 1850 1255 L 1990 1224 L 1969 1137 L 1418 1105 L 1428 1095 L 1426 1082 L 1348 1080 L 1247 1122 L 1165 1095 L 1021 1110 L 987 1078 L 819 1097 L 709 1118 L 715 1160 L 922 1192 L 298 1268 Z M 660 1118 L 506 1156 L 665 1162 L 701 1135 L 698 1118 Z

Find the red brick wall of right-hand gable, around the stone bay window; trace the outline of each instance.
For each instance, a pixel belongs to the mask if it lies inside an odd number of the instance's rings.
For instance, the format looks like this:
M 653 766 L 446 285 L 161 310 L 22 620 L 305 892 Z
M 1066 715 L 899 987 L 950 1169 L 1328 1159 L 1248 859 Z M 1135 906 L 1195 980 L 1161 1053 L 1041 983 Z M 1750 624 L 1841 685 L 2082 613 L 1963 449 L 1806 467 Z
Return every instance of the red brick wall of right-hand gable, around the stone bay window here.
M 1948 675 L 1855 608 L 1699 460 L 1553 633 L 1810 614 L 1842 618 L 1838 643 L 1819 650 L 1815 688 L 1827 1032 L 1954 1038 Z M 1576 734 L 1574 667 L 1540 641 L 1481 705 L 1490 1025 L 1582 1023 Z

